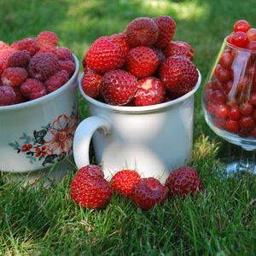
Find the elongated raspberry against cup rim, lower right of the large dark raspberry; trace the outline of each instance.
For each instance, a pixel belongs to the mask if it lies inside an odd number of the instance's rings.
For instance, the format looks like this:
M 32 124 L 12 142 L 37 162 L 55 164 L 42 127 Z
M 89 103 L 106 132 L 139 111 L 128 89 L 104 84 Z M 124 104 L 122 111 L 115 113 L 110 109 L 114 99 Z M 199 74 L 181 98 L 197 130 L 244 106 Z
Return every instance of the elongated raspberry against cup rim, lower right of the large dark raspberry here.
M 44 83 L 48 93 L 59 89 L 63 84 L 66 84 L 69 79 L 69 75 L 66 70 L 61 70 L 47 79 Z

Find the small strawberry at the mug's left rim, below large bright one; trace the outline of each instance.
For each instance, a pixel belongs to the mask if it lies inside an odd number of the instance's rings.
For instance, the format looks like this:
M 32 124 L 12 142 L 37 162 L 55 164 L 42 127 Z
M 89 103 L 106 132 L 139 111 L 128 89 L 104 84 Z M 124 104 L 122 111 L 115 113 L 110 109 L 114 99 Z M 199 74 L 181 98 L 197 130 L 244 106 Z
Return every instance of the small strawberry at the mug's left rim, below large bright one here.
M 82 89 L 84 93 L 92 98 L 96 98 L 101 95 L 102 87 L 102 75 L 93 71 L 84 73 L 82 79 Z

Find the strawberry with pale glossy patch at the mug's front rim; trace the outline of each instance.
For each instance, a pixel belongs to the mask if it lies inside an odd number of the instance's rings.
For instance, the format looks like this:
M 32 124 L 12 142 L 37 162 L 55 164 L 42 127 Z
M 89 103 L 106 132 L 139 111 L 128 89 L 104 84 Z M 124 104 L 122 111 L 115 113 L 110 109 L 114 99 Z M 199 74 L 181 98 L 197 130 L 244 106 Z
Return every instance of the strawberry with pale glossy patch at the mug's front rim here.
M 144 78 L 137 82 L 137 93 L 135 95 L 136 106 L 148 106 L 164 101 L 166 87 L 160 79 L 154 77 Z

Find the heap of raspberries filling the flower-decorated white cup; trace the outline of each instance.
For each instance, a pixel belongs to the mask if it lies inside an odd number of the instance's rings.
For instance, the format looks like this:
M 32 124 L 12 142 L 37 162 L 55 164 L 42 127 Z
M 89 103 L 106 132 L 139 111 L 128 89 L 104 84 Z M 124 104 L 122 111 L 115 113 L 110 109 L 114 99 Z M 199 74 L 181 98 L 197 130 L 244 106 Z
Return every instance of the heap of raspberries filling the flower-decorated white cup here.
M 70 49 L 55 32 L 9 45 L 0 41 L 0 106 L 32 101 L 66 84 L 75 70 Z

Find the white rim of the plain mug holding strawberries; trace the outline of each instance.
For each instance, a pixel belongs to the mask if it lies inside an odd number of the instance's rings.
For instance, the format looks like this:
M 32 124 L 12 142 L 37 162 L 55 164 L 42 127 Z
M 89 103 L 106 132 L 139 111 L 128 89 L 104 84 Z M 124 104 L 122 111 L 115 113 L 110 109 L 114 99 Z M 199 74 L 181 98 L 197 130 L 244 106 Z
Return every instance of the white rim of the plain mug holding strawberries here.
M 90 102 L 93 105 L 96 105 L 99 108 L 108 108 L 109 110 L 113 110 L 113 111 L 117 111 L 117 112 L 125 112 L 125 113 L 140 113 L 140 112 L 145 113 L 145 112 L 151 112 L 151 111 L 154 111 L 154 110 L 157 110 L 160 108 L 171 108 L 172 106 L 177 105 L 178 103 L 183 102 L 186 99 L 188 99 L 190 96 L 194 95 L 196 90 L 198 90 L 201 85 L 201 73 L 198 69 L 197 69 L 197 72 L 198 72 L 198 80 L 197 80 L 193 90 L 190 90 L 185 95 L 180 96 L 177 99 L 172 100 L 170 102 L 162 102 L 162 103 L 150 105 L 150 106 L 142 106 L 142 107 L 114 106 L 114 105 L 109 105 L 104 102 L 99 102 L 99 101 L 95 100 L 94 98 L 87 96 L 84 93 L 84 90 L 82 89 L 82 79 L 84 77 L 84 73 L 79 77 L 79 91 L 80 91 L 81 95 L 85 98 L 86 101 Z

